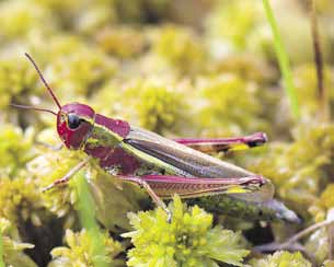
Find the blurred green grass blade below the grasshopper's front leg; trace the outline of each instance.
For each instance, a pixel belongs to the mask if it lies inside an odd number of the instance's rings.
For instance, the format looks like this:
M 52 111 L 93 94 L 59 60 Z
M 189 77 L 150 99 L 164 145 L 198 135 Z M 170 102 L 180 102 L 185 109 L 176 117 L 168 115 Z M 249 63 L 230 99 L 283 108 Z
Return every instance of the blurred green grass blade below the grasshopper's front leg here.
M 91 196 L 89 185 L 84 177 L 84 172 L 79 172 L 73 177 L 73 183 L 78 194 L 77 209 L 79 218 L 83 228 L 88 231 L 91 239 L 91 255 L 95 267 L 110 267 L 112 263 L 106 263 L 106 248 L 103 243 L 103 235 L 100 231 L 100 227 L 95 220 L 95 207 L 94 200 Z

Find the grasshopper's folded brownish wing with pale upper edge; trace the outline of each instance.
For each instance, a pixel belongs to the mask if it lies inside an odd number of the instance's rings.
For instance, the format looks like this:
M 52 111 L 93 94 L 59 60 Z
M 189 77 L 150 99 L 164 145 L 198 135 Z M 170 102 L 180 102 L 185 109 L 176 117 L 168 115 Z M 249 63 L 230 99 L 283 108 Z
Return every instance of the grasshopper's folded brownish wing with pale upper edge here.
M 163 162 L 163 164 L 170 165 L 176 175 L 184 177 L 238 178 L 255 175 L 242 167 L 220 161 L 141 128 L 131 126 L 131 130 L 124 142 L 135 150 L 131 151 L 135 155 L 136 150 L 139 150 L 150 158 L 158 159 L 159 161 L 154 162 L 158 166 L 163 166 L 159 165 L 159 162 Z M 141 160 L 146 159 L 141 156 Z M 151 162 L 148 160 L 148 163 Z M 237 198 L 247 201 L 262 202 L 273 198 L 274 187 L 270 181 L 265 179 L 264 185 L 256 193 L 234 195 Z

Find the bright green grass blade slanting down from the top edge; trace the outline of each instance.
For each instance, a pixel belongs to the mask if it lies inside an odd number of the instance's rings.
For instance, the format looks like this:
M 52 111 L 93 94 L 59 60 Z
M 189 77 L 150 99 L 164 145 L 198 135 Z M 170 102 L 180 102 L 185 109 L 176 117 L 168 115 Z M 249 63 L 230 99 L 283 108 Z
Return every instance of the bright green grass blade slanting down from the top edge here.
M 280 69 L 281 76 L 283 76 L 286 94 L 289 98 L 289 104 L 290 104 L 290 107 L 292 111 L 292 115 L 293 115 L 295 119 L 298 119 L 300 112 L 299 112 L 299 106 L 298 106 L 297 93 L 296 93 L 293 81 L 292 81 L 289 58 L 288 58 L 286 49 L 283 45 L 281 37 L 279 34 L 278 26 L 277 26 L 272 7 L 269 4 L 269 1 L 263 0 L 263 5 L 265 9 L 265 13 L 266 13 L 268 23 L 272 28 L 272 33 L 273 33 L 273 37 L 274 37 L 275 53 L 276 53 L 279 69 Z

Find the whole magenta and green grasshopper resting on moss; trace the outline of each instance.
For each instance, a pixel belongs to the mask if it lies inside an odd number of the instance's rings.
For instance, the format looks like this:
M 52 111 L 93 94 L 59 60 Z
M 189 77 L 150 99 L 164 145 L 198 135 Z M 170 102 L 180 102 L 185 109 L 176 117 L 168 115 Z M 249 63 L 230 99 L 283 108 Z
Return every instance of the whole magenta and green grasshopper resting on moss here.
M 172 213 L 162 199 L 171 198 L 174 194 L 195 199 L 208 210 L 223 210 L 232 216 L 298 221 L 293 211 L 273 199 L 274 186 L 269 179 L 206 154 L 261 146 L 267 141 L 265 134 L 224 139 L 170 140 L 125 120 L 105 117 L 85 104 L 74 102 L 60 105 L 36 62 L 28 54 L 25 56 L 59 109 L 55 113 L 34 106 L 13 106 L 55 115 L 62 143 L 68 149 L 82 150 L 88 154 L 87 159 L 44 190 L 66 184 L 90 160 L 95 159 L 108 174 L 145 188 L 166 212 L 169 221 Z

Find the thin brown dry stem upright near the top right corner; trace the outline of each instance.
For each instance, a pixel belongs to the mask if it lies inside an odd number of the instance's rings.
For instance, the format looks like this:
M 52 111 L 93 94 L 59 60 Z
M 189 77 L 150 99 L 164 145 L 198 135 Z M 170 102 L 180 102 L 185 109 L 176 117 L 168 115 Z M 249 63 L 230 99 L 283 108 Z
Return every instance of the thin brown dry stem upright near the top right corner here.
M 323 120 L 329 120 L 329 104 L 326 100 L 326 91 L 323 84 L 323 57 L 320 44 L 320 36 L 318 30 L 318 19 L 316 19 L 316 3 L 315 0 L 310 0 L 310 16 L 311 16 L 311 33 L 313 39 L 313 50 L 314 50 L 314 63 L 316 68 L 316 81 L 318 81 L 318 94 L 319 94 L 319 105 L 320 114 Z

